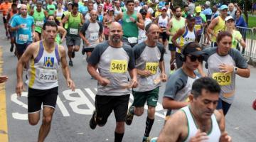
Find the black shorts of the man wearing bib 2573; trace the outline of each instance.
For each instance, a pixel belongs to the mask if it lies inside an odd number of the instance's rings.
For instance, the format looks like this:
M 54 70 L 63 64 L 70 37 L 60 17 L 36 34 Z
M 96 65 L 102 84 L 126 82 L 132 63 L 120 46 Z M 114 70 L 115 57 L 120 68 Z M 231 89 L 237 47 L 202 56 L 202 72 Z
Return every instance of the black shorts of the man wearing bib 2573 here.
M 28 114 L 33 114 L 43 107 L 55 109 L 58 97 L 58 87 L 51 89 L 32 89 L 28 88 Z

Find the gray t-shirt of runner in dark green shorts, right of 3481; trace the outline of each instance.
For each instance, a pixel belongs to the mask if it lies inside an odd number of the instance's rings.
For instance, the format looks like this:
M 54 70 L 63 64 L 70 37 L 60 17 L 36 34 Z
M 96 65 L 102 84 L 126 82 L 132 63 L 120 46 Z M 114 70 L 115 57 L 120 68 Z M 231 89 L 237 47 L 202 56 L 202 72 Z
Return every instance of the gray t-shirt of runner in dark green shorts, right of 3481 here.
M 135 56 L 135 66 L 139 70 L 149 70 L 151 76 L 142 77 L 138 75 L 138 87 L 134 88 L 137 92 L 146 92 L 159 87 L 161 84 L 159 62 L 164 60 L 164 45 L 157 43 L 155 47 L 149 47 L 145 42 L 139 43 L 133 48 Z

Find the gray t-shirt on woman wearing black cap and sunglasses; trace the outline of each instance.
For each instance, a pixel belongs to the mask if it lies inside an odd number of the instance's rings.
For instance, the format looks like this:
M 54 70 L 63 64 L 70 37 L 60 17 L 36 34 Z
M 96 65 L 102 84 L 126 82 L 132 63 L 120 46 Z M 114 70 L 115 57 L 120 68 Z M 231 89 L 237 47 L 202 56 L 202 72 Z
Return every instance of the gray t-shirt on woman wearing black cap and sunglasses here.
M 200 74 L 198 72 L 194 72 L 196 77 L 188 77 L 185 72 L 183 72 L 182 68 L 176 70 L 173 74 L 169 76 L 169 79 L 166 83 L 166 89 L 164 91 L 164 97 L 168 97 L 170 99 L 174 99 L 178 102 L 186 102 L 188 101 L 188 95 L 191 92 L 193 82 L 198 79 Z M 166 116 L 174 114 L 178 109 L 167 111 Z

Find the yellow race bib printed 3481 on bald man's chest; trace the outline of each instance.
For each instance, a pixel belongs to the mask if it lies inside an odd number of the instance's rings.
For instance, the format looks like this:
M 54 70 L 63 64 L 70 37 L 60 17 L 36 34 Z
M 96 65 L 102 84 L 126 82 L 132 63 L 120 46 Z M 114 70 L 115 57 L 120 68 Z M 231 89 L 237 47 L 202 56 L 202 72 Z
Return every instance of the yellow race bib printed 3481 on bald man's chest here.
M 127 60 L 111 60 L 110 72 L 112 73 L 127 72 Z

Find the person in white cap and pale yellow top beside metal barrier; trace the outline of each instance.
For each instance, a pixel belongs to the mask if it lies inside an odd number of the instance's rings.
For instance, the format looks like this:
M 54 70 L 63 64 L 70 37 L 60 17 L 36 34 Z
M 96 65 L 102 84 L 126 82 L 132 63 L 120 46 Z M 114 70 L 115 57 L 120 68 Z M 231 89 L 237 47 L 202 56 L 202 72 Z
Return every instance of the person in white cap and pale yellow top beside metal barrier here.
M 232 16 L 228 16 L 225 18 L 225 26 L 227 27 L 227 31 L 229 31 L 232 34 L 232 48 L 237 48 L 240 50 L 240 45 L 242 45 L 242 51 L 245 50 L 246 44 L 245 40 L 242 39 L 242 35 L 240 31 L 235 30 L 235 22 Z

